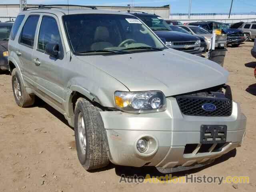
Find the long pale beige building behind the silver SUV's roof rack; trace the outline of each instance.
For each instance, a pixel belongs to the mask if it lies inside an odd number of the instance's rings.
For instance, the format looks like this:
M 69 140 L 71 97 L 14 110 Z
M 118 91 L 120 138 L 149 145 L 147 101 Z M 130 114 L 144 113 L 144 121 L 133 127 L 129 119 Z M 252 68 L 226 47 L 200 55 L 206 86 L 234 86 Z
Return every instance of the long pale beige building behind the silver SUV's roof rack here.
M 28 7 L 38 7 L 38 5 L 28 5 Z M 68 6 L 54 6 L 54 7 L 62 7 L 68 8 Z M 128 6 L 96 6 L 98 9 L 101 10 L 113 10 L 113 11 L 127 11 L 129 10 Z M 76 6 L 69 6 L 69 8 L 81 8 Z M 157 14 L 162 18 L 169 18 L 170 16 L 170 5 L 162 6 L 162 7 L 134 7 L 134 11 L 146 12 Z M 19 4 L 0 4 L 0 20 L 2 22 L 7 20 L 15 19 L 17 14 L 20 12 Z

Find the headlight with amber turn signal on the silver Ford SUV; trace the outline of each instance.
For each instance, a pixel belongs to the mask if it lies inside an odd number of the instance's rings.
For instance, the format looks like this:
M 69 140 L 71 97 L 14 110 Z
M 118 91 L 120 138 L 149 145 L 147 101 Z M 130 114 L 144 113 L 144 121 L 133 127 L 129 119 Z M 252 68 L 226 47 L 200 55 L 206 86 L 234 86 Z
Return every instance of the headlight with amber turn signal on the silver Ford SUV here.
M 148 113 L 166 110 L 166 98 L 161 91 L 116 91 L 114 99 L 116 107 L 126 112 Z

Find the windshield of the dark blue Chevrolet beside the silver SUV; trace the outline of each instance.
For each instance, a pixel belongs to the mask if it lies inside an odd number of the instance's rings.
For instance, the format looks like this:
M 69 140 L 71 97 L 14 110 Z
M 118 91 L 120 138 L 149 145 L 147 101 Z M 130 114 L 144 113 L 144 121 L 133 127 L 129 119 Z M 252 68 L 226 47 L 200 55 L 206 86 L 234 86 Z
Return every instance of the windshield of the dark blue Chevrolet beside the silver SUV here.
M 140 18 L 152 30 L 171 30 L 166 21 L 159 16 L 138 15 L 137 17 Z

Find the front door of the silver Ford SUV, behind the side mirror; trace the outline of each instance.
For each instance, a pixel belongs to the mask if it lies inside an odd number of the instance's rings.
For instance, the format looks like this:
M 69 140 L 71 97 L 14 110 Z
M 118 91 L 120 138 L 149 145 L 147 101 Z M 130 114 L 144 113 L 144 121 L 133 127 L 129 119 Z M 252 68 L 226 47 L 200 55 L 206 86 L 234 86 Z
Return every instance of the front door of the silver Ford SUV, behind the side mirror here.
M 57 57 L 46 53 L 48 43 L 58 44 L 59 55 Z M 61 81 L 62 66 L 66 59 L 64 53 L 66 52 L 58 18 L 53 14 L 42 15 L 36 38 L 36 48 L 32 55 L 32 68 L 37 74 L 38 93 L 60 108 L 63 108 L 62 104 L 65 98 Z

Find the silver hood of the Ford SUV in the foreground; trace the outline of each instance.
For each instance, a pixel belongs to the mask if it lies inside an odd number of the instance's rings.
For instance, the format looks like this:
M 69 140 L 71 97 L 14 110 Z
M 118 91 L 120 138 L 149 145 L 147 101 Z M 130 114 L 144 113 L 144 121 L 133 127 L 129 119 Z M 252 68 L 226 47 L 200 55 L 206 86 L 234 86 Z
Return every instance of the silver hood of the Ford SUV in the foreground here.
M 218 86 L 228 78 L 228 72 L 215 62 L 173 49 L 77 58 L 111 75 L 130 91 L 160 90 L 165 96 Z

